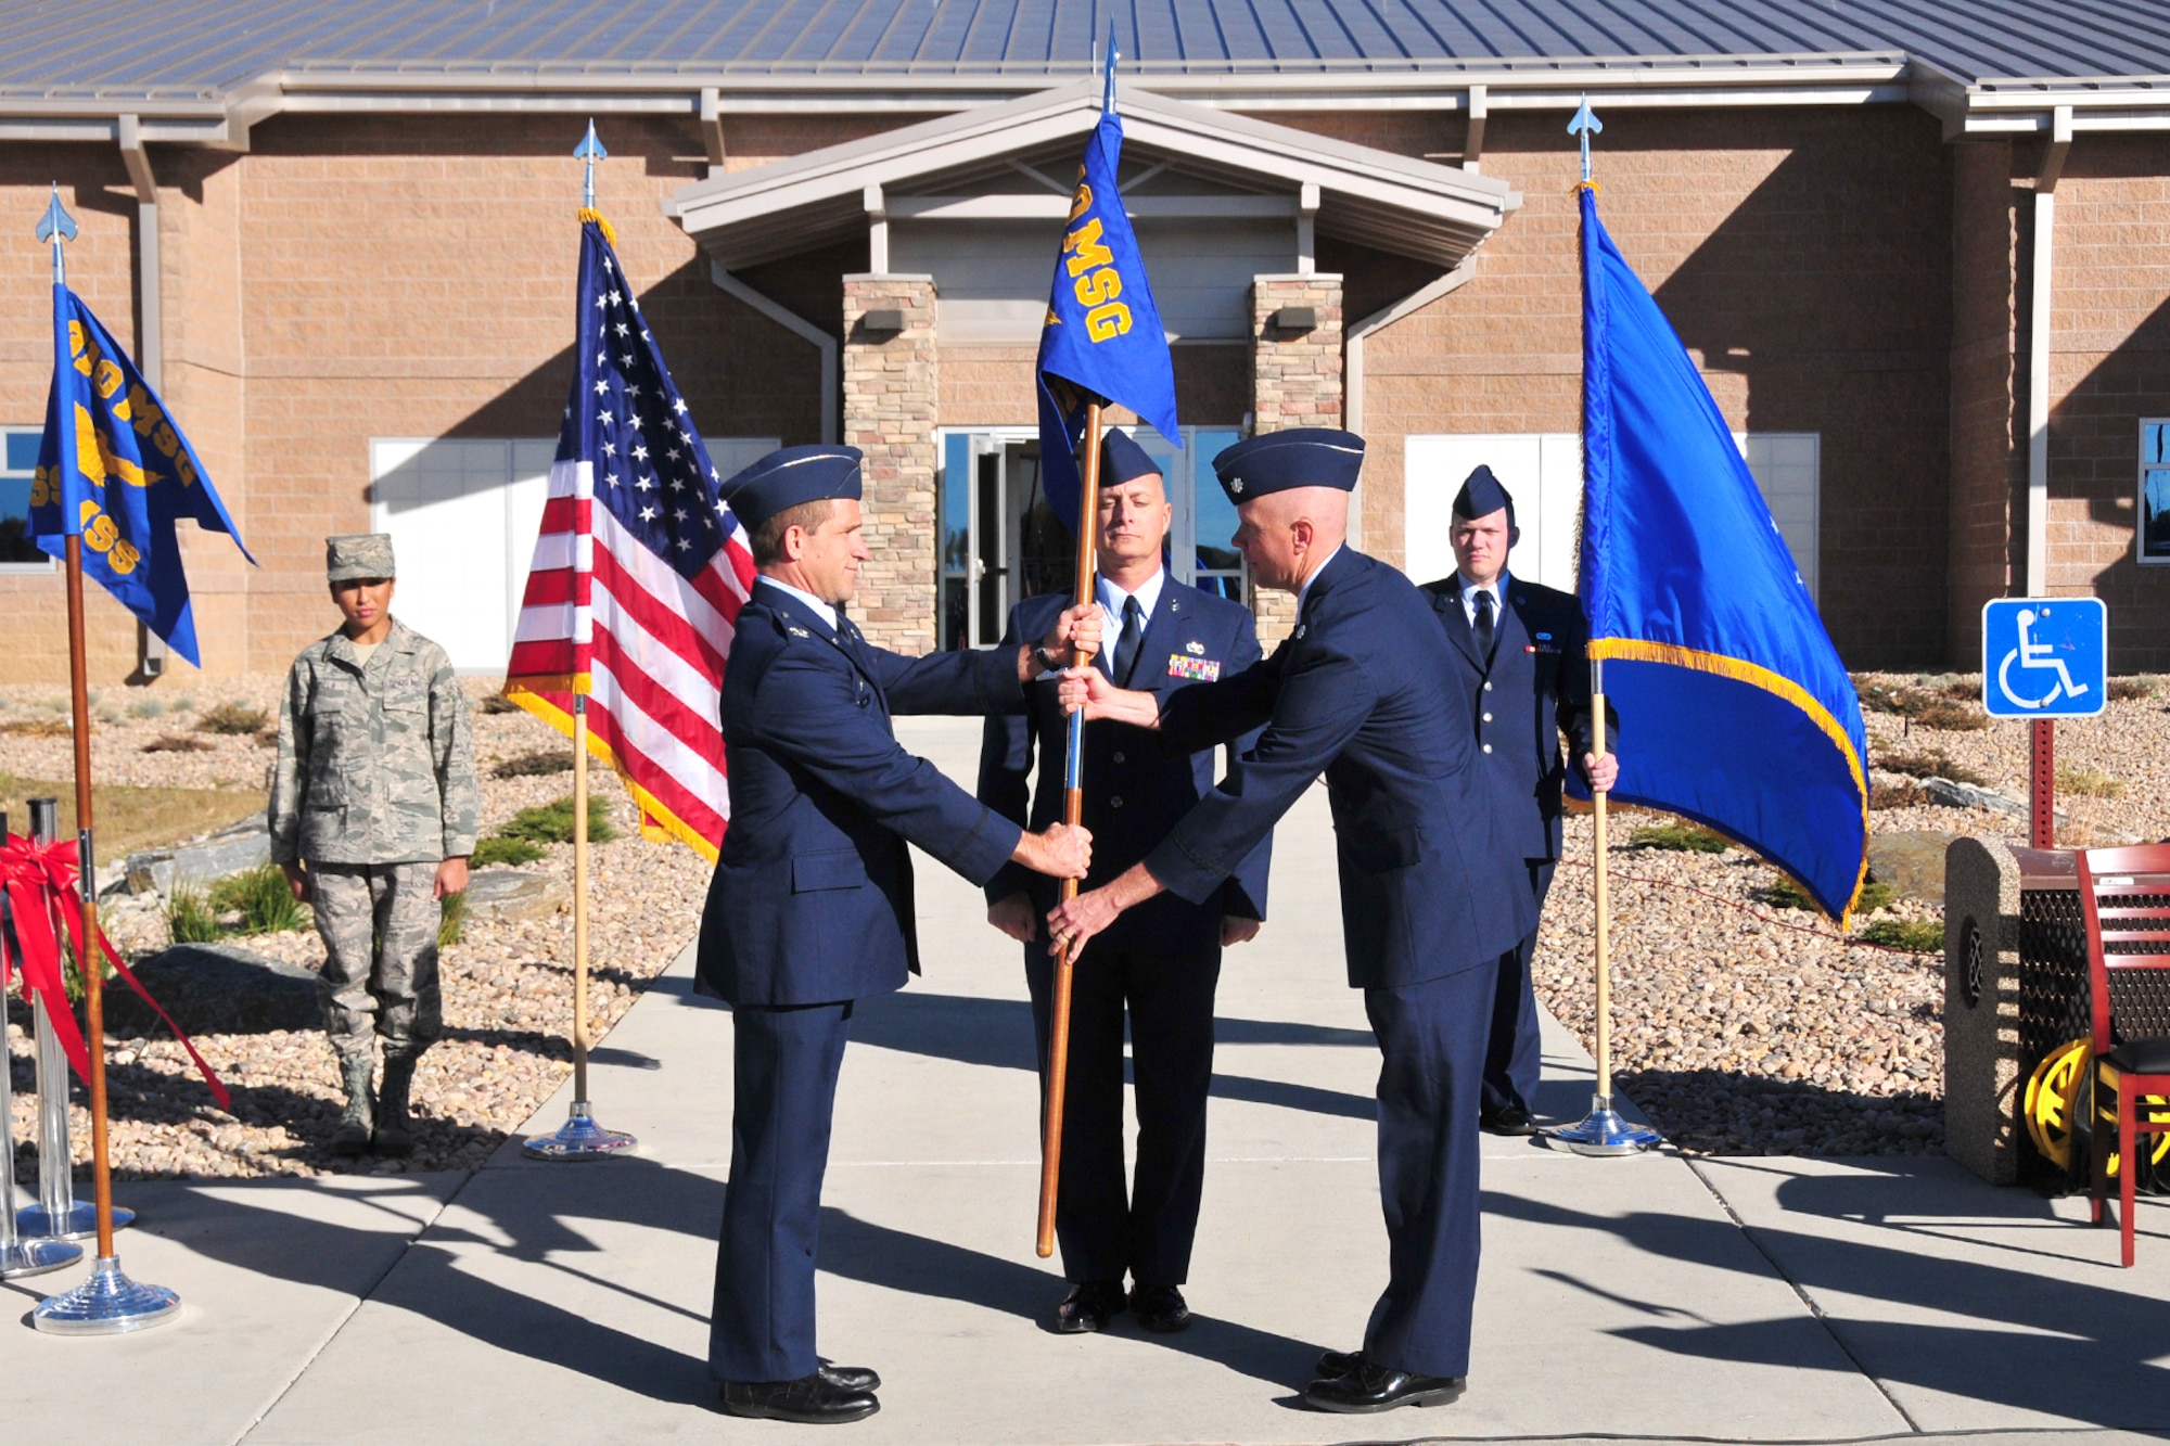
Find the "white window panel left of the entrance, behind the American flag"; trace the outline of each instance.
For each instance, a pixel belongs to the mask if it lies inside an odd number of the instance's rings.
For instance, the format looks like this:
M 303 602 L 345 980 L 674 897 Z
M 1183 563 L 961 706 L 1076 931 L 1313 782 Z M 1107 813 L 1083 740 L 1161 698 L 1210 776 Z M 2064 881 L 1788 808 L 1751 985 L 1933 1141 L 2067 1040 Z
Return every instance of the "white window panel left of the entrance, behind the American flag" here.
M 707 439 L 707 458 L 729 478 L 775 445 Z M 393 614 L 462 673 L 506 671 L 556 456 L 553 436 L 369 443 L 369 525 L 399 558 Z

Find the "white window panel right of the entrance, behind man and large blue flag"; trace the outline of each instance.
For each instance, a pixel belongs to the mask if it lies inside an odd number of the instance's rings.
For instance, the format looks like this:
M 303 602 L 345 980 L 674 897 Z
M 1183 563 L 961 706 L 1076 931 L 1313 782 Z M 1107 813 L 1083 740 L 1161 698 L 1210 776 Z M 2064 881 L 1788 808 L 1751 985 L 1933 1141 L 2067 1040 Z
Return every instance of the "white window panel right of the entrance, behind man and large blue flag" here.
M 1823 521 L 1823 439 L 1818 432 L 1734 432 L 1808 595 L 1816 597 Z M 1402 452 L 1404 571 L 1415 582 L 1454 573 L 1447 543 L 1454 495 L 1478 462 L 1515 497 L 1521 541 L 1508 571 L 1549 588 L 1575 591 L 1582 536 L 1582 439 L 1575 432 L 1486 432 L 1410 436 Z M 2170 475 L 2170 473 L 2166 473 Z M 2166 482 L 2170 486 L 2170 482 Z M 2170 554 L 2166 554 L 2170 558 Z

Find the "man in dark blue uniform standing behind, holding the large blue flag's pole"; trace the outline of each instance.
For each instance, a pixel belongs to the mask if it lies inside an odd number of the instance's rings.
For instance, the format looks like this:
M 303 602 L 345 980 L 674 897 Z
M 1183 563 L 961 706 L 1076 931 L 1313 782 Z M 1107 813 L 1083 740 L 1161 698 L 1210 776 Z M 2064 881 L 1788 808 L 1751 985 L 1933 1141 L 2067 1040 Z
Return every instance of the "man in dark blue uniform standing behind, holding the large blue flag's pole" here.
M 1508 838 L 1508 853 L 1523 860 L 1530 897 L 1545 908 L 1552 868 L 1560 858 L 1560 732 L 1582 782 L 1610 790 L 1619 760 L 1591 730 L 1591 625 L 1573 593 L 1508 575 L 1508 549 L 1521 541 L 1515 499 L 1491 467 L 1478 467 L 1454 497 L 1454 575 L 1426 582 L 1447 643 L 1454 675 L 1469 701 L 1478 736 L 1478 769 Z M 1606 738 L 1619 736 L 1619 714 L 1606 706 Z M 1484 1051 L 1484 1112 L 1495 1136 L 1534 1136 L 1530 1099 L 1543 1051 L 1536 1038 L 1536 992 L 1530 955 L 1536 925 L 1499 955 L 1499 992 L 1493 997 L 1491 1044 Z

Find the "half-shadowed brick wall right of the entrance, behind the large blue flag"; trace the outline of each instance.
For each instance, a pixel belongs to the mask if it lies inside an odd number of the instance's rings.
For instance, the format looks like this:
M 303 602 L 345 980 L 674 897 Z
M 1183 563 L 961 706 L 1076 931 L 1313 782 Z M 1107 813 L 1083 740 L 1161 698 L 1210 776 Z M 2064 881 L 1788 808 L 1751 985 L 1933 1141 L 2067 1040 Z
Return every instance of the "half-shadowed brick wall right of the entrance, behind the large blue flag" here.
M 1365 343 L 1365 547 L 1395 562 L 1402 434 L 1580 428 L 1573 137 L 1493 115 L 1482 165 L 1521 211 Z M 1823 614 L 1853 667 L 1946 651 L 1946 167 L 1910 106 L 1614 111 L 1597 148 L 1606 226 L 1727 421 L 1823 436 Z

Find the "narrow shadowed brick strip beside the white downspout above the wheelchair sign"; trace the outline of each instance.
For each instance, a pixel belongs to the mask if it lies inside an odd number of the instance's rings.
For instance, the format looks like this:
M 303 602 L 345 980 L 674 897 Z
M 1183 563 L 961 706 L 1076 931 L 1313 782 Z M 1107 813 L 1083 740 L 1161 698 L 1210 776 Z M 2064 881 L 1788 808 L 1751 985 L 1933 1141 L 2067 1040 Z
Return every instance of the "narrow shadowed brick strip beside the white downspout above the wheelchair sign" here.
M 2018 208 L 2012 143 L 1953 150 L 1951 202 L 1951 604 L 1953 667 L 1981 660 L 1981 604 L 2025 584 L 2027 447 L 2014 434 L 2020 386 Z M 2020 497 L 2025 506 L 2025 495 Z

